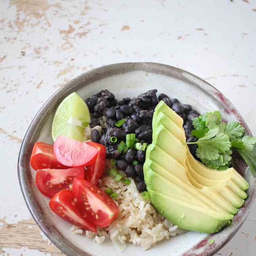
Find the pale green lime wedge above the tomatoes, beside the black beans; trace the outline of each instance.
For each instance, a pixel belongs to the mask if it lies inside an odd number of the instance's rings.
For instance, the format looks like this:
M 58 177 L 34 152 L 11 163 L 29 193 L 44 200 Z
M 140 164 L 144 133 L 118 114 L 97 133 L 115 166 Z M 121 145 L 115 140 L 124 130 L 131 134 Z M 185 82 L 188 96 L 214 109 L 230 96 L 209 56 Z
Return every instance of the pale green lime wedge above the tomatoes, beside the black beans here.
M 83 99 L 76 92 L 69 94 L 56 110 L 51 127 L 53 141 L 59 135 L 83 141 L 84 127 L 88 126 L 90 121 L 90 112 Z

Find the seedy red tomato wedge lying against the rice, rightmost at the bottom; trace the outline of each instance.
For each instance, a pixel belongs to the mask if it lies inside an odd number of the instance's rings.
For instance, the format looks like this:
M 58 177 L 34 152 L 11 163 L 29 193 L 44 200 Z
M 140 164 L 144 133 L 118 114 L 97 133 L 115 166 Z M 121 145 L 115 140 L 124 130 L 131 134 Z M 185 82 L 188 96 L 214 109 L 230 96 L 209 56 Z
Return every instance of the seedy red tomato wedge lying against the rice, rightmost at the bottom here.
M 80 212 L 98 227 L 107 227 L 119 213 L 113 199 L 85 179 L 74 178 L 72 192 Z

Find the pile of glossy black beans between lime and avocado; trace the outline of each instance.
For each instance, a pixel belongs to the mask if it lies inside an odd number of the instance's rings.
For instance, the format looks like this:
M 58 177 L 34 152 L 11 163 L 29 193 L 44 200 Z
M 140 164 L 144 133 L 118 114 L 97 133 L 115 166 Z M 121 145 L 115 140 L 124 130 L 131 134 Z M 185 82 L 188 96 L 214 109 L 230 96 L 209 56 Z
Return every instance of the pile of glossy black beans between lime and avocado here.
M 152 143 L 152 118 L 155 106 L 160 100 L 183 118 L 187 142 L 197 140 L 196 137 L 191 136 L 192 120 L 200 114 L 192 110 L 191 105 L 182 105 L 177 99 L 170 99 L 166 94 L 161 93 L 157 98 L 156 92 L 156 89 L 152 89 L 138 95 L 137 98 L 123 98 L 117 101 L 114 94 L 105 89 L 85 101 L 92 116 L 91 128 L 100 125 L 101 116 L 107 117 L 107 128 L 102 129 L 101 135 L 98 130 L 92 130 L 92 141 L 106 146 L 107 157 L 116 159 L 116 168 L 125 171 L 128 177 L 132 177 L 140 192 L 146 191 L 143 175 L 146 151 L 129 149 L 125 154 L 120 154 L 117 148 L 121 141 L 125 142 L 126 134 L 129 133 L 135 133 L 141 144 Z M 116 127 L 115 123 L 122 119 L 126 122 L 121 127 Z M 110 141 L 112 136 L 118 139 L 117 142 Z M 196 157 L 196 148 L 196 144 L 189 145 L 194 157 Z M 133 165 L 134 160 L 138 164 Z

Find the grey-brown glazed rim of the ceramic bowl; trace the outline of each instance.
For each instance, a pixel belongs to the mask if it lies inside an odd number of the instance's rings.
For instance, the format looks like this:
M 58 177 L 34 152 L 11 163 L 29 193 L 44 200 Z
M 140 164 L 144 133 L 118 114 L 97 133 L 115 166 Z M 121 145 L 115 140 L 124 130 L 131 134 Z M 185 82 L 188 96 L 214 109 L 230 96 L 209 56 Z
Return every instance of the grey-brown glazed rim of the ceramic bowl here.
M 58 89 L 54 94 L 52 94 L 48 98 L 48 100 L 39 109 L 39 111 L 35 115 L 34 119 L 31 121 L 31 123 L 25 133 L 25 136 L 23 138 L 21 147 L 20 147 L 20 152 L 19 152 L 19 156 L 18 156 L 18 164 L 17 164 L 20 188 L 21 188 L 23 198 L 26 202 L 26 205 L 27 205 L 27 208 L 28 208 L 30 214 L 32 215 L 32 217 L 34 218 L 34 220 L 36 221 L 37 225 L 40 227 L 42 232 L 46 235 L 46 237 L 48 239 L 50 239 L 50 241 L 52 243 L 54 243 L 55 246 L 58 249 L 60 249 L 62 252 L 64 252 L 66 255 L 91 256 L 89 253 L 86 253 L 85 251 L 82 251 L 79 248 L 75 247 L 71 242 L 69 242 L 66 238 L 64 238 L 62 236 L 62 234 L 54 228 L 54 226 L 46 227 L 46 225 L 44 225 L 44 223 L 42 221 L 44 218 L 43 212 L 41 211 L 41 208 L 40 208 L 38 202 L 36 201 L 35 195 L 33 193 L 31 193 L 31 191 L 28 190 L 28 185 L 24 181 L 24 177 L 26 175 L 26 169 L 23 168 L 22 165 L 23 165 L 24 161 L 27 162 L 27 159 L 25 159 L 25 158 L 27 158 L 26 149 L 28 147 L 28 144 L 30 143 L 31 138 L 33 138 L 33 136 L 34 136 L 33 130 L 35 127 L 37 127 L 38 123 L 43 118 L 43 116 L 45 115 L 45 113 L 47 112 L 49 107 L 53 104 L 53 101 L 55 101 L 58 98 L 63 97 L 63 94 L 68 94 L 72 88 L 78 87 L 78 85 L 81 84 L 82 81 L 86 81 L 95 76 L 97 77 L 100 74 L 105 74 L 106 71 L 108 71 L 109 69 L 111 71 L 118 69 L 121 72 L 122 72 L 122 70 L 123 70 L 123 72 L 136 71 L 136 70 L 144 70 L 144 71 L 154 70 L 154 71 L 161 72 L 161 70 L 165 70 L 166 72 L 170 71 L 170 72 L 182 75 L 182 76 L 184 76 L 184 74 L 188 74 L 190 77 L 197 80 L 197 82 L 196 82 L 197 86 L 199 86 L 199 83 L 200 83 L 201 84 L 200 87 L 204 87 L 204 86 L 208 87 L 208 88 L 204 88 L 205 91 L 208 91 L 211 94 L 212 94 L 212 92 L 215 92 L 214 93 L 215 95 L 213 95 L 213 97 L 215 99 L 217 99 L 226 109 L 228 109 L 230 111 L 230 113 L 232 113 L 233 116 L 240 123 L 243 124 L 247 134 L 252 135 L 249 127 L 244 122 L 240 113 L 233 106 L 233 104 L 218 89 L 216 89 L 214 86 L 212 86 L 205 80 L 195 76 L 194 74 L 192 74 L 188 71 L 180 69 L 180 68 L 176 68 L 176 67 L 161 64 L 161 63 L 153 63 L 153 62 L 125 62 L 125 63 L 116 63 L 116 64 L 110 64 L 110 65 L 106 65 L 106 66 L 101 66 L 101 67 L 92 69 L 90 71 L 87 71 L 87 72 L 81 74 L 80 76 L 72 79 L 71 81 L 66 83 L 63 87 Z M 109 76 L 111 76 L 111 75 L 113 75 L 113 74 L 109 73 Z M 105 76 L 105 77 L 107 77 L 107 76 Z M 96 80 L 99 80 L 99 79 L 96 79 Z M 210 90 L 209 90 L 209 87 L 211 88 Z M 78 88 L 76 88 L 76 89 L 78 89 Z M 30 173 L 30 170 L 29 170 L 29 173 Z M 251 176 L 251 179 L 252 179 L 251 183 L 256 184 L 256 178 Z M 183 256 L 189 256 L 189 255 L 207 256 L 207 255 L 213 255 L 214 253 L 216 253 L 238 231 L 238 229 L 240 228 L 240 226 L 242 225 L 242 223 L 244 222 L 244 220 L 246 219 L 246 217 L 248 216 L 248 214 L 250 212 L 250 209 L 251 209 L 252 203 L 255 199 L 255 196 L 256 196 L 256 190 L 255 190 L 255 186 L 254 186 L 252 193 L 250 194 L 250 196 L 248 196 L 245 204 L 240 208 L 240 209 L 243 209 L 243 211 L 242 211 L 242 215 L 239 216 L 237 225 L 230 229 L 228 234 L 225 235 L 225 239 L 223 239 L 223 241 L 220 241 L 218 243 L 209 243 L 209 240 L 217 237 L 219 232 L 215 233 L 215 234 L 211 234 L 207 238 L 201 240 L 198 244 L 196 244 L 193 248 L 188 250 L 186 253 L 184 253 Z M 246 207 L 244 208 L 245 205 L 246 205 Z M 37 206 L 37 209 L 35 209 L 35 206 Z M 39 206 L 39 208 L 38 208 L 38 206 Z

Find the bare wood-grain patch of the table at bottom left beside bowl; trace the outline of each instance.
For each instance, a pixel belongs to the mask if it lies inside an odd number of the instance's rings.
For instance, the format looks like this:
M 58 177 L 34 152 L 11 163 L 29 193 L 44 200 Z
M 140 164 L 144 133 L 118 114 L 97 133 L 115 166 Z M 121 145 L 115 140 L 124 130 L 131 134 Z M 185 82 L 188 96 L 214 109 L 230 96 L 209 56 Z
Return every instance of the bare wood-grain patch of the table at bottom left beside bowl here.
M 4 253 L 1 248 L 26 247 L 51 255 L 65 256 L 54 244 L 43 239 L 41 230 L 33 218 L 15 224 L 8 224 L 4 219 L 0 222 L 4 223 L 0 229 L 0 255 Z

